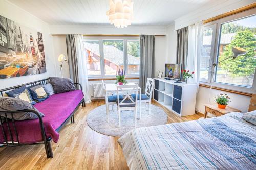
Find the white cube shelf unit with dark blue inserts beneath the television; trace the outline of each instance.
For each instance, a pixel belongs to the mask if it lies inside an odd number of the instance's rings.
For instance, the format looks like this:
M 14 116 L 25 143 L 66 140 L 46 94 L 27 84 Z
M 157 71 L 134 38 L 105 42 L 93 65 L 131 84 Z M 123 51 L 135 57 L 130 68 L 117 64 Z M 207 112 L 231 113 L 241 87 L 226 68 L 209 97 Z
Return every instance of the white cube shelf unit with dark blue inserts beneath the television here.
M 174 83 L 175 80 L 155 79 L 153 98 L 180 116 L 195 114 L 197 84 Z

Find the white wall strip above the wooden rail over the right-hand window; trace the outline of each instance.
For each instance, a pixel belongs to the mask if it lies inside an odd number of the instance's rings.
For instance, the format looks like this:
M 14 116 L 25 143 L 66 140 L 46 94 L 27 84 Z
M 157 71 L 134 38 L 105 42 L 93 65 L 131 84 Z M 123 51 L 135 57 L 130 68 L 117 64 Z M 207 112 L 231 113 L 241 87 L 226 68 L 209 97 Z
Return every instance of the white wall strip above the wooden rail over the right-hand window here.
M 201 7 L 175 20 L 175 30 L 206 20 L 223 13 L 255 3 L 255 0 L 215 0 L 207 7 Z

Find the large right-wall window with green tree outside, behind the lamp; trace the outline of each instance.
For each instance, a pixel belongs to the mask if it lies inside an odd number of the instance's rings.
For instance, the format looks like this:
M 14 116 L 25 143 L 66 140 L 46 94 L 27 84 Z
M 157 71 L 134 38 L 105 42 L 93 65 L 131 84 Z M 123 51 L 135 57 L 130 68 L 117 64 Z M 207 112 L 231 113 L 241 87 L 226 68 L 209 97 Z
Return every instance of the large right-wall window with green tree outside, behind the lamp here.
M 200 81 L 217 87 L 242 92 L 256 89 L 256 15 L 248 10 L 204 25 L 200 59 Z M 248 52 L 236 59 L 227 59 L 217 65 L 211 77 L 211 66 L 230 56 L 232 47 L 241 47 Z M 253 90 L 254 89 L 254 90 Z

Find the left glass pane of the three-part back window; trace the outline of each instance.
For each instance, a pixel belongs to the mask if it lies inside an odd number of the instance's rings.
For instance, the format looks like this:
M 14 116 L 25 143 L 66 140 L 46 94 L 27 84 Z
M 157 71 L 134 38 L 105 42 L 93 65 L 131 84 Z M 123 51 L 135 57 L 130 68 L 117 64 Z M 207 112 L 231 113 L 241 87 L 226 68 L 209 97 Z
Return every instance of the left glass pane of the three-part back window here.
M 88 75 L 100 75 L 99 41 L 84 41 L 87 55 Z

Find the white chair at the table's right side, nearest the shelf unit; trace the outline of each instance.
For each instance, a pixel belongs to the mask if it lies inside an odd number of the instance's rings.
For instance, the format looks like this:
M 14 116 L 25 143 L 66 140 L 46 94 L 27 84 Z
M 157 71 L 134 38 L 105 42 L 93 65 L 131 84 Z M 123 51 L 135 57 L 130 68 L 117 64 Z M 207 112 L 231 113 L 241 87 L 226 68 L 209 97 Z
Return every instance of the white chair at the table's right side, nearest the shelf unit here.
M 153 93 L 155 80 L 152 78 L 147 78 L 146 81 L 146 88 L 145 88 L 145 94 L 141 94 L 141 103 L 144 102 L 145 105 L 148 102 L 148 114 L 151 112 L 151 98 Z M 136 94 L 132 94 L 132 98 L 135 99 Z M 138 94 L 138 102 L 140 100 L 140 95 Z M 140 115 L 141 118 L 141 115 Z

